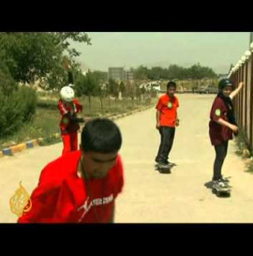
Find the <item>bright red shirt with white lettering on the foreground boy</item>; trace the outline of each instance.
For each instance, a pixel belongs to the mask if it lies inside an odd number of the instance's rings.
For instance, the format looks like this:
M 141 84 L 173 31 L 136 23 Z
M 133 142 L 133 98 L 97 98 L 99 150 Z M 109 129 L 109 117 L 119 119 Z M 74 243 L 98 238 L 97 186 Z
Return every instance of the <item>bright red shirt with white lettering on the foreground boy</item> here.
M 77 175 L 80 158 L 80 151 L 70 152 L 43 169 L 31 196 L 32 208 L 19 223 L 96 223 L 102 216 L 103 222 L 110 221 L 115 198 L 124 185 L 121 157 L 105 178 L 89 179 L 91 195 L 85 180 Z

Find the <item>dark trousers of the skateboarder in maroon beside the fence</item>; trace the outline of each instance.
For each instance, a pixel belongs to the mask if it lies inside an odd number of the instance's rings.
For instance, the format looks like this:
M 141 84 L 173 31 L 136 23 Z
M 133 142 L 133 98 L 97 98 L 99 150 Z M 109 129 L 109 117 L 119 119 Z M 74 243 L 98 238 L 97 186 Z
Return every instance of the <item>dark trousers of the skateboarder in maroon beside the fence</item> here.
M 226 158 L 227 153 L 228 153 L 228 145 L 229 145 L 229 141 L 221 143 L 219 145 L 215 145 L 216 159 L 215 159 L 215 164 L 214 164 L 213 180 L 218 180 L 218 179 L 222 178 L 221 168 L 222 168 L 224 159 Z

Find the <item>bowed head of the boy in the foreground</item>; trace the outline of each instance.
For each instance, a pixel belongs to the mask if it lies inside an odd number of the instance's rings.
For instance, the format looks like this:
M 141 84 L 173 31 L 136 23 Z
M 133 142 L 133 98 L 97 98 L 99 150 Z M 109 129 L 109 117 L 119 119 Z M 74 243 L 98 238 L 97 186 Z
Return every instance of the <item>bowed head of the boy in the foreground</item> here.
M 115 164 L 121 148 L 120 129 L 111 120 L 96 118 L 82 129 L 82 165 L 91 178 L 103 178 Z

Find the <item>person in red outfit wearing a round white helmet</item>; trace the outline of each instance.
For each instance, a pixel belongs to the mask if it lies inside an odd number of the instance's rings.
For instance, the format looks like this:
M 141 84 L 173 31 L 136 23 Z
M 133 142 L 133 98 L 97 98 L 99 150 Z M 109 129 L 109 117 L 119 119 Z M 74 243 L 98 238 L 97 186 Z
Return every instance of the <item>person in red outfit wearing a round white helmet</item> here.
M 64 143 L 63 155 L 78 149 L 77 131 L 80 129 L 79 123 L 84 122 L 83 118 L 77 117 L 77 113 L 82 112 L 82 104 L 74 98 L 75 92 L 72 86 L 73 76 L 72 73 L 68 71 L 68 86 L 64 86 L 61 89 L 61 98 L 58 101 L 58 109 L 62 115 L 60 128 Z

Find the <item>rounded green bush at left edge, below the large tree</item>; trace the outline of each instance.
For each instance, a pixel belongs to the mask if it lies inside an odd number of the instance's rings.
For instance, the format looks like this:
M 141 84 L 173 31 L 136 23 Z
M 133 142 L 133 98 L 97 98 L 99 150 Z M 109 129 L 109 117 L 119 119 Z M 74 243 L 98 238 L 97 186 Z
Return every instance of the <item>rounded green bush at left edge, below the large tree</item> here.
M 0 137 L 13 134 L 23 123 L 30 121 L 36 113 L 36 92 L 20 87 L 9 94 L 0 88 Z

